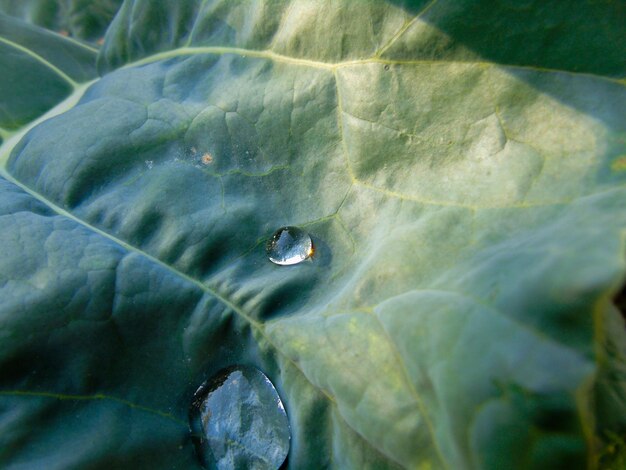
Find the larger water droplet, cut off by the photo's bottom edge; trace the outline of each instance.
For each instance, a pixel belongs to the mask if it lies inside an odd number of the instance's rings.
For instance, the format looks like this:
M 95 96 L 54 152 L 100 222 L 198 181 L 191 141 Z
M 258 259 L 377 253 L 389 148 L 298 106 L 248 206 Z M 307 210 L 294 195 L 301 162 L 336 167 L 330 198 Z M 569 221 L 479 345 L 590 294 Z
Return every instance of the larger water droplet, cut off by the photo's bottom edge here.
M 274 385 L 261 371 L 233 366 L 194 395 L 192 439 L 209 469 L 276 470 L 289 452 L 289 421 Z

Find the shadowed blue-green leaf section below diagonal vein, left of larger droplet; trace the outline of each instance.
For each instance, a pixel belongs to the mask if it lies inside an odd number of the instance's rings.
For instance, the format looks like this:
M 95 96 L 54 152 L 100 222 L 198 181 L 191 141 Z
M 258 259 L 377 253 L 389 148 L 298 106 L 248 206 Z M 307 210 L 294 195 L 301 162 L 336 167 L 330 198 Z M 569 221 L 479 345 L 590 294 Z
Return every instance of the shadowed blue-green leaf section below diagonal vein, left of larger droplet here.
M 0 250 L 2 466 L 195 468 L 193 390 L 261 365 L 232 313 L 4 179 Z

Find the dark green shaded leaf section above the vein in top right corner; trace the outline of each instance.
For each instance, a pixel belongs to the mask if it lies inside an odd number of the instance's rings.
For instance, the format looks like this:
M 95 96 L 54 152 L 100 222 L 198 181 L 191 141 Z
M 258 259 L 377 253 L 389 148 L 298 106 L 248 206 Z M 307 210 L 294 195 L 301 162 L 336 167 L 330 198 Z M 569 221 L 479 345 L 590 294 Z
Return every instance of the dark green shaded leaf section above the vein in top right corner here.
M 626 3 L 544 0 L 396 1 L 421 15 L 391 46 L 394 59 L 484 60 L 624 77 Z

